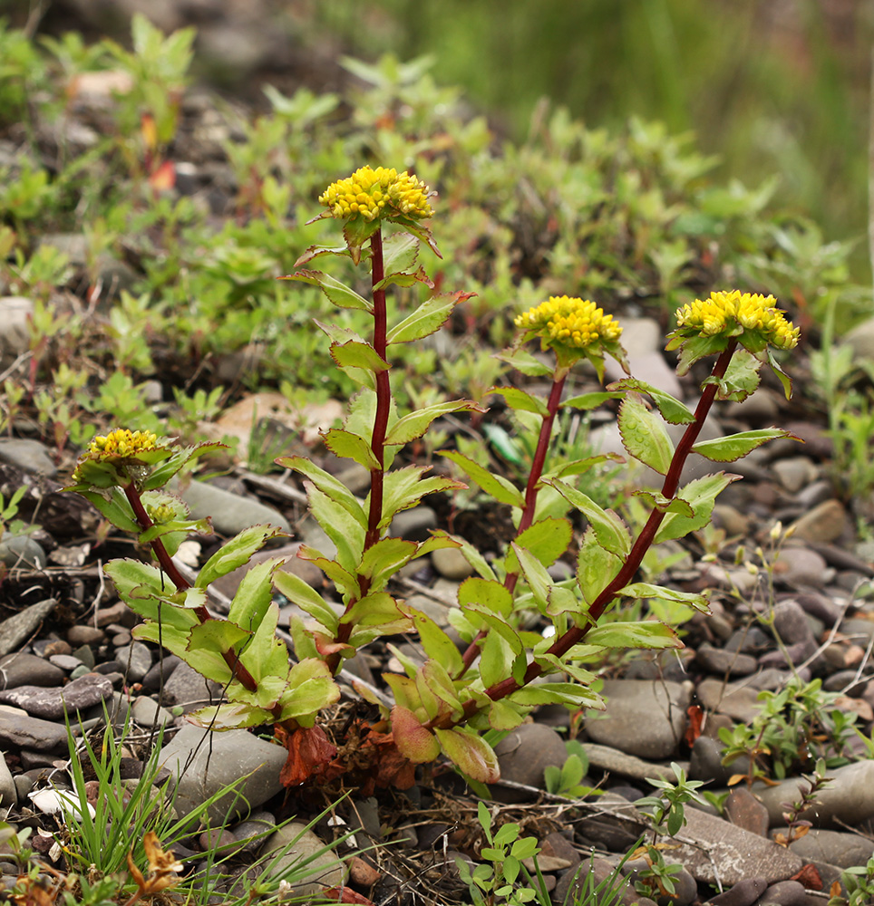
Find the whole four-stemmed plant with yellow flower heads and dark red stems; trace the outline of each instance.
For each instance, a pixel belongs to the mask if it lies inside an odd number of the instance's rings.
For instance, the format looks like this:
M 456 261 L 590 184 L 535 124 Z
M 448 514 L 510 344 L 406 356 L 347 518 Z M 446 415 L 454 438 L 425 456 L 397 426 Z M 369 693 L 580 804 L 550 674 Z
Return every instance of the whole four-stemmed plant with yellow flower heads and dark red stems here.
M 714 400 L 749 396 L 758 385 L 762 361 L 771 364 L 788 395 L 788 378 L 772 348 L 791 349 L 798 342 L 798 331 L 770 296 L 714 293 L 679 309 L 668 349 L 679 350 L 680 373 L 704 357 L 716 357 L 693 411 L 664 390 L 632 377 L 604 390 L 564 398 L 568 375 L 579 361 L 590 362 L 600 380 L 606 356 L 627 373 L 622 328 L 588 300 L 558 296 L 534 306 L 516 319 L 519 340 L 500 358 L 524 375 L 548 379 L 548 396 L 515 386 L 490 391 L 503 397 L 510 409 L 539 419 L 525 487 L 492 474 L 458 450 L 442 452 L 467 480 L 510 507 L 516 536 L 509 549 L 488 562 L 470 542 L 443 531 L 423 542 L 393 537 L 393 518 L 401 510 L 416 506 L 427 494 L 465 487 L 456 477 L 429 474 L 428 467 L 393 467 L 398 450 L 421 438 L 434 419 L 481 407 L 472 400 L 451 400 L 399 416 L 389 351 L 394 344 L 415 342 L 439 330 L 452 308 L 468 296 L 432 295 L 405 316 L 390 317 L 386 300 L 390 287 L 432 288 L 417 264 L 422 243 L 439 255 L 426 223 L 433 213 L 431 196 L 418 178 L 394 169 L 364 167 L 333 183 L 319 200 L 325 211 L 316 219 L 342 220 L 345 245 L 307 249 L 297 262 L 300 269 L 288 279 L 315 284 L 333 304 L 363 312 L 372 323 L 368 338 L 348 328 L 318 324 L 337 366 L 360 388 L 350 400 L 342 427 L 323 435 L 325 446 L 364 467 L 370 473 L 370 490 L 362 501 L 308 458 L 282 457 L 277 462 L 303 477 L 310 510 L 332 543 L 334 550 L 301 545 L 298 556 L 319 567 L 333 583 L 341 599 L 339 612 L 329 596 L 295 574 L 277 572 L 274 561 L 249 570 L 227 619 L 216 619 L 207 611 L 209 582 L 243 564 L 276 534 L 267 526 L 254 526 L 219 550 L 201 568 L 193 586 L 174 573 L 172 545 L 181 533 L 204 526 L 187 521 L 175 498 L 148 495 L 204 448 L 175 450 L 153 436 L 143 439 L 115 432 L 95 441 L 84 454 L 74 489 L 116 525 L 138 532 L 142 544 L 151 545 L 163 575 L 135 561 L 116 561 L 107 569 L 122 597 L 147 620 L 137 629 L 139 637 L 160 641 L 225 685 L 229 703 L 211 713 L 214 726 L 251 726 L 268 720 L 281 725 L 279 735 L 290 758 L 309 759 L 289 772 L 299 781 L 316 769 L 316 762 L 335 756 L 333 747 L 311 744 L 317 711 L 337 697 L 332 677 L 344 660 L 378 637 L 415 631 L 426 655 L 423 664 L 390 646 L 405 671 L 384 675 L 393 706 L 385 705 L 372 689 L 359 688 L 381 712 L 369 738 L 374 757 L 391 761 L 393 769 L 380 776 L 398 785 L 412 783 L 408 768 L 442 754 L 465 776 L 490 782 L 498 776 L 497 759 L 482 731 L 513 728 L 532 708 L 544 704 L 603 707 L 585 663 L 609 649 L 680 646 L 675 630 L 662 622 L 598 625 L 608 608 L 643 598 L 706 609 L 704 595 L 636 581 L 636 573 L 652 545 L 706 525 L 715 497 L 737 477 L 717 471 L 681 486 L 690 453 L 731 462 L 769 439 L 789 436 L 780 429 L 762 429 L 698 441 Z M 387 224 L 399 229 L 384 236 Z M 323 271 L 302 266 L 325 255 L 346 256 L 355 265 L 364 262 L 371 276 L 370 298 Z M 547 355 L 532 355 L 525 348 L 529 340 L 539 340 Z M 636 535 L 621 516 L 578 488 L 578 476 L 616 457 L 592 456 L 551 467 L 548 462 L 558 411 L 591 410 L 607 400 L 618 400 L 618 428 L 628 455 L 664 477 L 660 490 L 636 492 L 649 508 Z M 668 423 L 685 425 L 676 445 Z M 549 494 L 543 494 L 544 489 Z M 574 525 L 567 516 L 556 515 L 556 500 L 565 513 L 578 511 L 587 526 L 578 543 L 574 576 L 564 581 L 555 580 L 549 566 L 568 555 Z M 460 549 L 475 573 L 461 583 L 458 606 L 451 612 L 452 625 L 463 641 L 461 649 L 428 615 L 396 597 L 391 585 L 406 564 L 442 547 Z M 165 575 L 173 589 L 164 587 Z M 277 611 L 270 600 L 271 581 L 308 617 L 291 622 L 298 659 L 291 668 L 274 637 Z M 551 623 L 551 633 L 520 628 L 519 612 L 530 608 Z M 533 682 L 544 677 L 549 680 Z

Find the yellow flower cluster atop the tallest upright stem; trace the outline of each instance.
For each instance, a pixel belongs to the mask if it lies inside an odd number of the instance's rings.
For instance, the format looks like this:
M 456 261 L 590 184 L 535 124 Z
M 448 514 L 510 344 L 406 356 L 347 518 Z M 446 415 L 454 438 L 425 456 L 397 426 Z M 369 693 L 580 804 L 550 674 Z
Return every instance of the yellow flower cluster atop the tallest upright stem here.
M 341 220 L 398 215 L 425 220 L 434 214 L 421 179 L 384 167 L 356 169 L 349 178 L 332 182 L 318 200 Z

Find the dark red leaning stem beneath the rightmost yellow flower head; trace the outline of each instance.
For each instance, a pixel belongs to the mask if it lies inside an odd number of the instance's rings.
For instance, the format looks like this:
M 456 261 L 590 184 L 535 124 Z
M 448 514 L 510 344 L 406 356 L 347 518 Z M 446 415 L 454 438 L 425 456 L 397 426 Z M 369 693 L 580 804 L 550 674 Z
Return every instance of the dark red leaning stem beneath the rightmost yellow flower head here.
M 711 372 L 716 381 L 719 381 L 724 377 L 725 371 L 728 369 L 728 364 L 732 361 L 736 346 L 737 341 L 732 340 L 723 352 L 720 353 L 719 358 L 714 364 L 714 370 Z M 714 404 L 714 400 L 716 399 L 716 390 L 718 390 L 716 381 L 711 381 L 704 387 L 704 390 L 702 390 L 701 399 L 698 400 L 698 405 L 694 411 L 694 421 L 685 429 L 683 437 L 676 445 L 674 456 L 671 458 L 671 465 L 667 470 L 665 482 L 662 485 L 662 494 L 665 497 L 671 498 L 676 494 L 680 484 L 680 474 L 685 466 L 685 460 L 692 451 L 694 442 L 701 433 L 701 429 L 704 427 L 704 420 L 707 418 L 707 415 Z M 625 588 L 625 586 L 634 578 L 634 575 L 644 558 L 644 554 L 646 554 L 649 546 L 652 545 L 653 540 L 655 539 L 655 533 L 658 531 L 658 526 L 662 524 L 664 518 L 665 513 L 660 510 L 654 509 L 653 512 L 650 513 L 649 518 L 646 520 L 646 525 L 641 529 L 640 535 L 637 535 L 637 540 L 632 546 L 622 569 L 617 573 L 617 577 L 611 583 L 607 584 L 607 587 L 597 596 L 589 607 L 587 624 L 585 626 L 574 626 L 565 632 L 552 644 L 547 652 L 548 654 L 554 654 L 558 658 L 563 657 L 574 647 L 574 645 L 578 644 L 578 642 L 585 637 L 586 633 L 597 623 L 598 618 L 607 609 L 607 605 L 616 597 L 616 593 L 620 589 Z M 493 686 L 490 686 L 489 689 L 486 689 L 485 693 L 492 701 L 504 699 L 518 689 L 521 689 L 523 686 L 526 686 L 531 680 L 537 679 L 542 672 L 543 668 L 534 661 L 531 661 L 521 682 L 517 682 L 512 677 L 501 679 L 500 682 L 497 682 Z M 441 728 L 452 727 L 470 719 L 477 709 L 476 702 L 473 699 L 469 699 L 464 703 L 464 714 L 460 719 L 447 720 L 446 718 L 443 718 L 442 721 L 433 721 L 426 726 L 439 726 Z

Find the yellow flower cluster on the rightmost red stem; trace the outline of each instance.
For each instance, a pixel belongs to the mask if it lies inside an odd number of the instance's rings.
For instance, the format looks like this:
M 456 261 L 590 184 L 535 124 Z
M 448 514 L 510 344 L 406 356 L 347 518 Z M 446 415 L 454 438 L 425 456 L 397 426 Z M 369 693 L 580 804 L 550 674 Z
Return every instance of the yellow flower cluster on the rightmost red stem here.
M 787 321 L 782 310 L 775 307 L 772 295 L 741 293 L 711 293 L 709 299 L 696 299 L 676 310 L 678 329 L 693 329 L 704 336 L 734 331 L 737 325 L 748 331 L 758 331 L 767 342 L 778 349 L 792 349 L 798 343 L 799 329 Z

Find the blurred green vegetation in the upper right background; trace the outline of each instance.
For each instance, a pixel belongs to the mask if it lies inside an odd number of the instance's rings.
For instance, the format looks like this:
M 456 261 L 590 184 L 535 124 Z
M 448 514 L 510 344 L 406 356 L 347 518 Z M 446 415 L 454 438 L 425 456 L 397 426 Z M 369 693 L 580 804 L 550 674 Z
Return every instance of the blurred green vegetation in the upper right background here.
M 868 279 L 869 61 L 874 5 L 857 0 L 319 0 L 314 33 L 373 61 L 431 53 L 438 82 L 461 85 L 521 140 L 543 96 L 589 127 L 636 114 L 694 131 L 717 177 L 858 240 Z

